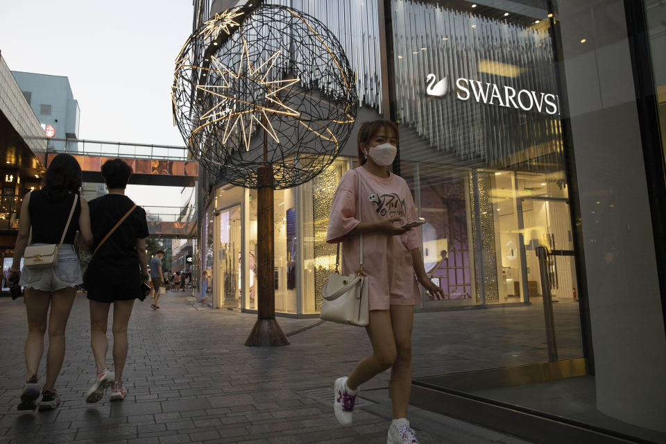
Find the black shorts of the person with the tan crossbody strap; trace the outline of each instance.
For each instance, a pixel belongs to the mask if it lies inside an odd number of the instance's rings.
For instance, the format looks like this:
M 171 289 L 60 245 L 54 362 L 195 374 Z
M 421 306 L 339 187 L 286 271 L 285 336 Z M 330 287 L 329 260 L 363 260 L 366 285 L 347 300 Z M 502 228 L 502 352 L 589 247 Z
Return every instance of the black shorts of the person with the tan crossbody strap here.
M 141 298 L 141 278 L 138 268 L 110 270 L 103 273 L 92 264 L 86 271 L 85 289 L 87 298 L 97 302 L 114 302 L 114 300 L 132 300 Z

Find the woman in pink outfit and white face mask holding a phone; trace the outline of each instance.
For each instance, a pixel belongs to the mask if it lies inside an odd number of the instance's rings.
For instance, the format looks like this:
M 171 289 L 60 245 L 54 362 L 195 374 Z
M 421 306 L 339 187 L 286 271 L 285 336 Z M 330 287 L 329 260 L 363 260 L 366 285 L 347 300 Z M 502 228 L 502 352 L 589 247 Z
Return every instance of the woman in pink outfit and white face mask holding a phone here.
M 345 173 L 333 198 L 326 241 L 342 242 L 341 273 L 359 273 L 359 234 L 363 234 L 364 273 L 368 280 L 370 325 L 366 327 L 373 355 L 334 384 L 334 412 L 343 425 L 352 423 L 359 386 L 391 368 L 393 422 L 388 443 L 418 443 L 407 420 L 411 392 L 411 330 L 413 306 L 420 302 L 416 281 L 430 298 L 444 292 L 425 273 L 420 252 L 420 228 L 401 225 L 416 221 L 416 206 L 407 182 L 388 172 L 395 159 L 398 126 L 391 121 L 363 123 L 359 129 L 361 167 Z M 361 192 L 358 181 L 361 181 Z M 361 216 L 357 213 L 361 199 Z M 360 220 L 359 220 L 360 219 Z

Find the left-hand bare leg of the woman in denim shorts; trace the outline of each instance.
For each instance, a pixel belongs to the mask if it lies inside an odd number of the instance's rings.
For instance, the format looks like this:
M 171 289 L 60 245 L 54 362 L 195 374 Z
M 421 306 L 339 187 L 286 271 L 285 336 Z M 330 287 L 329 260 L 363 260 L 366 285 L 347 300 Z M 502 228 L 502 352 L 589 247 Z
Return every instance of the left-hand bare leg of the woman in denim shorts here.
M 40 369 L 44 354 L 44 334 L 49 315 L 51 294 L 48 291 L 26 289 L 26 313 L 28 314 L 28 336 L 26 337 L 26 370 L 29 379 Z

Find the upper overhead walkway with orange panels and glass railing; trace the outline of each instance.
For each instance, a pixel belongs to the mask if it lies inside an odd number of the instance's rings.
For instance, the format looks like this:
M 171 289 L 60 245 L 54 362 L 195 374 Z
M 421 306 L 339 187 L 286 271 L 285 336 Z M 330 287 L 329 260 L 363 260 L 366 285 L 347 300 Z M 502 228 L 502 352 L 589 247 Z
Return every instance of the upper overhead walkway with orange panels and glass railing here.
M 198 164 L 188 159 L 185 146 L 103 142 L 84 139 L 47 139 L 46 151 L 35 153 L 44 167 L 60 153 L 76 157 L 83 169 L 84 182 L 103 182 L 100 169 L 106 160 L 121 158 L 134 173 L 131 185 L 194 187 Z

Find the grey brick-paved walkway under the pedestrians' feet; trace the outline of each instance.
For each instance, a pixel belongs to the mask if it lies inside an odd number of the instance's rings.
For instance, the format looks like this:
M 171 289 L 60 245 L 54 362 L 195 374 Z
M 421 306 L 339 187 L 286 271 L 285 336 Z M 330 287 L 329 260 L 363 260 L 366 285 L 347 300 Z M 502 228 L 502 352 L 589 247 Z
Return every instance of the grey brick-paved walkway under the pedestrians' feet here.
M 16 410 L 25 377 L 24 305 L 1 297 L 0 443 L 386 442 L 386 373 L 361 387 L 367 398 L 352 427 L 338 425 L 330 405 L 334 379 L 370 352 L 363 329 L 323 323 L 289 336 L 287 347 L 250 348 L 243 344 L 255 315 L 200 307 L 181 295 L 162 296 L 160 311 L 150 308 L 150 299 L 137 302 L 124 377 L 128 396 L 86 404 L 83 395 L 95 368 L 87 300 L 79 294 L 56 384 L 63 403 L 56 411 L 35 413 Z M 317 322 L 278 320 L 287 333 Z M 42 381 L 45 361 L 44 356 Z M 420 409 L 412 408 L 410 418 L 422 444 L 525 443 Z

